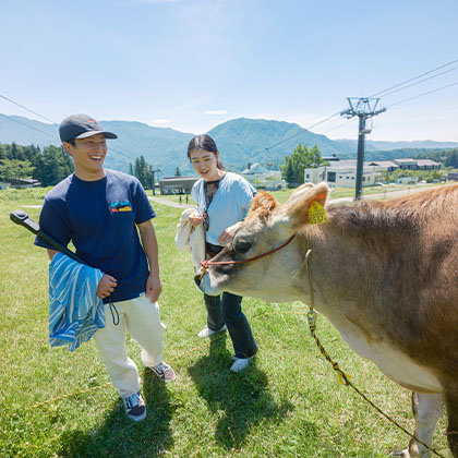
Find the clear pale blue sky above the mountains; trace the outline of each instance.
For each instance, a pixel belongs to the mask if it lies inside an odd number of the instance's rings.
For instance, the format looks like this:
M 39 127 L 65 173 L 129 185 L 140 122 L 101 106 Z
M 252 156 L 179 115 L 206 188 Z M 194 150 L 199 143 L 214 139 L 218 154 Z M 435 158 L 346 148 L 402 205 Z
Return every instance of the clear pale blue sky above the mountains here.
M 0 95 L 57 122 L 86 112 L 192 133 L 239 117 L 308 129 L 347 97 L 458 59 L 456 0 L 21 0 L 1 2 L 0 17 Z M 383 97 L 369 138 L 458 141 L 458 84 L 390 108 L 457 83 L 458 62 L 445 70 Z M 0 112 L 43 121 L 4 99 Z M 357 124 L 338 116 L 312 131 L 355 138 Z

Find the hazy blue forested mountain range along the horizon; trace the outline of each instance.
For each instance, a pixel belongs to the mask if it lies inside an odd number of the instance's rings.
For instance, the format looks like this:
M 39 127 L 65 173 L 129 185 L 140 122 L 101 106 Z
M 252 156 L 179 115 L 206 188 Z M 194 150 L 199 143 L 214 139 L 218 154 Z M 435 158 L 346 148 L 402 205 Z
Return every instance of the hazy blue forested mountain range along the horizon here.
M 186 156 L 188 144 L 194 136 L 173 129 L 153 128 L 133 121 L 100 121 L 105 129 L 118 134 L 118 140 L 108 141 L 109 154 L 106 166 L 117 170 L 129 170 L 129 164 L 144 156 L 147 164 L 160 169 L 160 177 L 181 173 L 194 174 Z M 0 114 L 0 143 L 60 145 L 58 124 L 48 124 L 24 117 Z M 354 158 L 357 141 L 332 141 L 325 135 L 314 134 L 298 124 L 264 119 L 238 118 L 212 129 L 208 134 L 221 153 L 221 161 L 228 170 L 241 171 L 248 164 L 272 164 L 275 168 L 284 162 L 298 143 L 316 145 L 323 156 Z M 366 159 L 389 159 L 391 156 L 413 156 L 417 148 L 457 147 L 453 142 L 373 142 L 366 141 Z M 390 149 L 410 148 L 406 153 Z

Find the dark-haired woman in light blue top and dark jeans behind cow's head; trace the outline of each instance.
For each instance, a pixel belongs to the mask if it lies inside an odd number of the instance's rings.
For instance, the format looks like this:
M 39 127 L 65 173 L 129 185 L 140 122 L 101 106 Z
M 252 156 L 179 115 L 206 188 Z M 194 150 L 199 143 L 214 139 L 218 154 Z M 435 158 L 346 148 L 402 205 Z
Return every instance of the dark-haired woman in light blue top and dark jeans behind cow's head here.
M 243 177 L 224 170 L 218 148 L 208 135 L 197 135 L 191 140 L 188 157 L 202 178 L 191 191 L 198 213 L 189 219 L 192 226 L 203 225 L 207 256 L 213 257 L 232 240 L 256 191 Z M 207 325 L 198 337 L 209 337 L 228 329 L 234 350 L 234 362 L 230 370 L 242 371 L 257 351 L 250 324 L 242 312 L 242 298 L 224 292 L 220 297 L 204 294 L 204 301 Z

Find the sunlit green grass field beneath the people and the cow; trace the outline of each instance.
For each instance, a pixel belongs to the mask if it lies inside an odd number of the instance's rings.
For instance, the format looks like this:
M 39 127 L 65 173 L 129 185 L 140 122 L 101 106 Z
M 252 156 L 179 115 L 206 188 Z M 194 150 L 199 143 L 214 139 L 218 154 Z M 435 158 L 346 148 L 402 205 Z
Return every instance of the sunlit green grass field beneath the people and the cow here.
M 306 308 L 299 302 L 244 299 L 260 352 L 244 373 L 230 373 L 228 337 L 208 342 L 196 336 L 206 314 L 191 258 L 174 249 L 181 210 L 159 204 L 154 222 L 164 284 L 165 360 L 178 379 L 164 385 L 146 371 L 148 417 L 131 422 L 92 341 L 73 353 L 49 347 L 48 260 L 33 245 L 33 236 L 9 219 L 10 212 L 39 204 L 43 195 L 24 190 L 7 198 L 2 193 L 0 457 L 375 458 L 409 442 L 338 384 L 310 337 Z M 25 209 L 38 219 L 39 209 Z M 317 335 L 352 382 L 412 431 L 409 391 L 349 350 L 323 317 Z M 129 340 L 128 347 L 143 371 L 138 346 Z M 434 446 L 449 456 L 444 420 Z

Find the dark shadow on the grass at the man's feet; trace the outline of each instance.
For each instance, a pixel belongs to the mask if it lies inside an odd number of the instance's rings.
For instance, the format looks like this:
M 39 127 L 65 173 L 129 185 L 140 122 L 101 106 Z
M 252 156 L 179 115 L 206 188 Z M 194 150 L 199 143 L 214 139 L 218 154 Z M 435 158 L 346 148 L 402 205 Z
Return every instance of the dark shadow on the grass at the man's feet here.
M 65 457 L 158 457 L 173 446 L 170 431 L 172 405 L 167 385 L 150 371 L 143 377 L 147 417 L 133 422 L 125 417 L 122 400 L 117 401 L 104 424 L 91 432 L 71 431 L 61 435 Z

